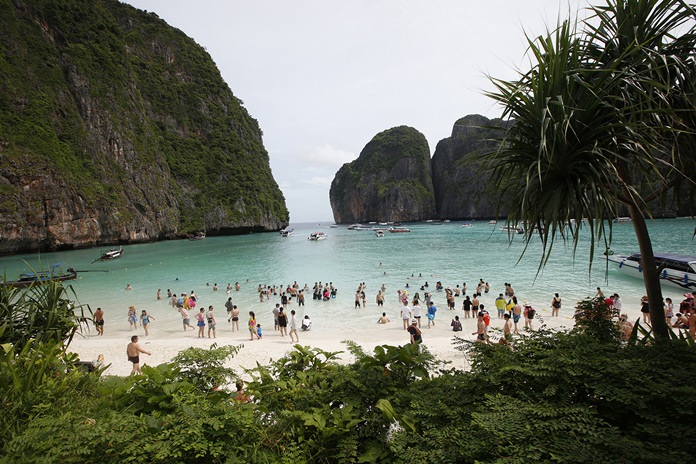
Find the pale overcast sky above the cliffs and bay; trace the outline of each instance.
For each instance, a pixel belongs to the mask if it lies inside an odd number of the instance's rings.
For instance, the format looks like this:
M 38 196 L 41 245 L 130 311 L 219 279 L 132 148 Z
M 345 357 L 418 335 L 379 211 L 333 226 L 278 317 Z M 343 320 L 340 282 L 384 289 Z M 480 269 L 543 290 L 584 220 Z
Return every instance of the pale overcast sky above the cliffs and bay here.
M 587 0 L 126 0 L 204 47 L 258 120 L 290 222 L 332 222 L 329 188 L 379 132 L 437 143 L 499 117 L 489 77 L 529 69 L 525 36 Z M 594 2 L 597 3 L 596 1 Z

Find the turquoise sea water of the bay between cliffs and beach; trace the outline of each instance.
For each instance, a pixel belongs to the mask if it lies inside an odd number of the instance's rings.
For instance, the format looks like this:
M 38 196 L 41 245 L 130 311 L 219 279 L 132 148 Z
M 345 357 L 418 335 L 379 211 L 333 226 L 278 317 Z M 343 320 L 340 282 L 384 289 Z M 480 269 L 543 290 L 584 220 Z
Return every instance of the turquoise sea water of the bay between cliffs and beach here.
M 654 250 L 696 255 L 695 224 L 692 218 L 649 221 Z M 169 306 L 168 291 L 195 291 L 199 307 L 214 305 L 218 319 L 225 314 L 224 303 L 231 297 L 244 321 L 248 310 L 270 317 L 273 304 L 279 301 L 278 294 L 261 303 L 259 285 L 285 288 L 295 282 L 310 288 L 315 282 L 330 282 L 338 289 L 330 301 L 315 301 L 310 291 L 306 305 L 296 308 L 299 318 L 309 314 L 315 325 L 325 329 L 344 325 L 346 316 L 373 323 L 383 310 L 399 320 L 399 290 L 410 296 L 429 291 L 436 306 L 445 308 L 445 293 L 435 290 L 438 281 L 453 289 L 466 285 L 471 295 L 482 279 L 490 286 L 482 302 L 490 306 L 504 291 L 505 283 L 512 284 L 520 299 L 539 309 L 548 308 L 558 292 L 564 311 L 570 311 L 572 303 L 594 296 L 601 287 L 607 294 L 619 293 L 624 308 L 640 314 L 639 300 L 645 293 L 642 280 L 623 275 L 608 263 L 603 242 L 597 244 L 590 266 L 587 227 L 577 248 L 557 241 L 549 260 L 540 267 L 539 240 L 525 247 L 522 236 L 501 231 L 501 225 L 487 221 L 404 223 L 410 232 L 386 232 L 384 237 L 377 237 L 374 231 L 349 230 L 331 222 L 301 223 L 290 225 L 294 234 L 289 237 L 277 232 L 252 233 L 124 245 L 123 256 L 113 261 L 95 262 L 108 247 L 14 255 L 0 258 L 0 272 L 6 280 L 14 280 L 22 272 L 63 263 L 64 268 L 79 271 L 78 279 L 66 282 L 78 305 L 92 310 L 102 307 L 107 321 L 113 321 L 116 314 L 125 326 L 127 309 L 133 305 L 138 311 L 147 309 L 155 317 L 164 316 L 158 324 L 172 331 L 181 330 L 181 321 Z M 308 240 L 310 233 L 319 231 L 327 234 L 325 240 Z M 614 224 L 611 249 L 617 254 L 638 252 L 632 223 Z M 239 291 L 234 289 L 235 283 L 239 283 Z M 365 284 L 367 307 L 358 311 L 354 300 L 361 283 Z M 233 287 L 229 295 L 228 284 Z M 127 286 L 132 290 L 126 290 Z M 375 304 L 382 286 L 386 288 L 383 309 Z M 663 287 L 663 291 L 675 302 L 682 299 L 678 289 Z M 458 309 L 461 301 L 461 297 L 457 299 Z

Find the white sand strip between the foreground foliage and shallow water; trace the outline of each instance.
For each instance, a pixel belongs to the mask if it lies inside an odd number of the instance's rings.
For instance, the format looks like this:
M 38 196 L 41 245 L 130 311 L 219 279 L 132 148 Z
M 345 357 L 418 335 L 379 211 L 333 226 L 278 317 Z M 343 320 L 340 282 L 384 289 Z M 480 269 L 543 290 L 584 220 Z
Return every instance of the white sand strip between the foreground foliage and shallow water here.
M 178 318 L 178 313 L 170 309 L 171 317 Z M 352 309 L 351 309 L 352 311 Z M 300 345 L 320 348 L 325 351 L 344 351 L 341 359 L 348 362 L 350 355 L 346 352 L 346 347 L 342 340 L 351 340 L 363 347 L 366 352 L 372 352 L 377 345 L 404 345 L 409 343 L 409 335 L 403 329 L 400 318 L 391 317 L 389 324 L 377 324 L 376 320 L 381 310 L 372 308 L 357 309 L 356 311 L 371 311 L 375 313 L 375 323 L 369 326 L 354 327 L 350 325 L 350 320 L 343 330 L 325 330 L 314 321 L 314 326 L 310 331 L 299 330 Z M 389 308 L 388 314 L 396 313 L 398 309 Z M 379 312 L 379 314 L 378 314 Z M 540 310 L 539 317 L 534 320 L 534 328 L 538 329 L 541 324 L 548 328 L 570 327 L 573 324 L 571 308 L 563 309 L 559 317 L 550 317 L 548 310 Z M 463 325 L 462 332 L 453 332 L 450 326 L 451 320 L 455 315 L 460 317 Z M 437 359 L 451 362 L 451 367 L 466 369 L 468 359 L 465 353 L 456 350 L 452 345 L 455 334 L 466 340 L 474 341 L 475 335 L 471 335 L 476 330 L 476 319 L 463 318 L 463 311 L 457 309 L 450 311 L 439 309 L 435 320 L 435 326 L 427 328 L 427 320 L 423 317 L 421 330 L 423 332 L 423 344 L 435 355 Z M 177 322 L 179 322 L 177 320 Z M 70 351 L 77 353 L 83 361 L 93 361 L 102 354 L 104 362 L 109 364 L 106 374 L 125 376 L 131 372 L 131 363 L 126 357 L 126 345 L 132 335 L 139 336 L 140 346 L 152 353 L 152 356 L 141 356 L 141 363 L 155 366 L 170 361 L 179 351 L 188 347 L 208 348 L 217 343 L 223 345 L 243 345 L 239 353 L 231 359 L 229 365 L 234 367 L 239 375 L 244 374 L 244 368 L 252 368 L 256 363 L 267 363 L 276 360 L 292 349 L 290 338 L 281 337 L 279 332 L 272 328 L 271 324 L 266 324 L 263 338 L 261 340 L 249 340 L 249 332 L 246 330 L 246 318 L 240 318 L 239 332 L 232 332 L 226 317 L 219 317 L 217 338 L 197 338 L 197 330 L 188 329 L 186 332 L 181 330 L 180 323 L 176 324 L 178 331 L 159 330 L 158 323 L 155 321 L 150 326 L 150 335 L 146 337 L 142 328 L 129 331 L 125 317 L 119 317 L 118 321 L 107 320 L 104 336 L 97 335 L 92 327 L 89 333 L 77 334 L 70 345 Z M 520 320 L 519 328 L 522 332 L 524 326 L 523 319 Z M 503 319 L 498 319 L 496 314 L 491 318 L 491 340 L 497 341 L 501 335 Z M 498 330 L 495 330 L 498 329 Z M 207 334 L 207 329 L 206 329 Z

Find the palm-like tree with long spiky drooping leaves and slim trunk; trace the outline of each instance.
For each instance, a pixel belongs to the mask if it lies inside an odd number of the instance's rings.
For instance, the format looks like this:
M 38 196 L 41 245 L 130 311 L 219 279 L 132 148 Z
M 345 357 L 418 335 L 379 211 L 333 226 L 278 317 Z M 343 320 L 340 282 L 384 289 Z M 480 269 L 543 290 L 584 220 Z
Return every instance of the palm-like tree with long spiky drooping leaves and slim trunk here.
M 647 204 L 693 185 L 696 15 L 681 0 L 607 0 L 578 33 L 566 21 L 529 39 L 532 69 L 493 79 L 488 95 L 514 121 L 489 158 L 507 221 L 539 226 L 540 268 L 554 240 L 578 243 L 584 218 L 595 243 L 611 244 L 625 205 L 635 227 L 655 336 L 668 338 L 646 225 Z M 691 176 L 691 177 L 690 177 Z M 693 189 L 691 189 L 693 192 Z M 510 205 L 513 205 L 510 207 Z M 525 232 L 527 244 L 535 234 Z

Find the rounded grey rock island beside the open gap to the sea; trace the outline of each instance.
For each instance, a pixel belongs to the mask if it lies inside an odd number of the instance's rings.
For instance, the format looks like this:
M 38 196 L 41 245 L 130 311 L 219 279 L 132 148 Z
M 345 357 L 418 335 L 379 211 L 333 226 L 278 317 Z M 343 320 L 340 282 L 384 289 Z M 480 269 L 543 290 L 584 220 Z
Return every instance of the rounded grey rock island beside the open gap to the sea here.
M 358 159 L 339 169 L 329 198 L 338 223 L 434 217 L 430 149 L 425 136 L 406 126 L 377 134 Z

